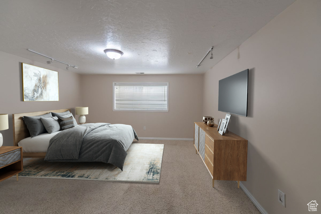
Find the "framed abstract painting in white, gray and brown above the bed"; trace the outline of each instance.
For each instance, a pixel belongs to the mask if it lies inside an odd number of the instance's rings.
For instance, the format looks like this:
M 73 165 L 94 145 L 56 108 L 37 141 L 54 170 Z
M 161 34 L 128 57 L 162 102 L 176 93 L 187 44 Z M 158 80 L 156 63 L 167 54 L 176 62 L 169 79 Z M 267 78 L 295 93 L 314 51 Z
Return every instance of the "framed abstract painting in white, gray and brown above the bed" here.
M 23 101 L 59 101 L 58 72 L 21 63 Z

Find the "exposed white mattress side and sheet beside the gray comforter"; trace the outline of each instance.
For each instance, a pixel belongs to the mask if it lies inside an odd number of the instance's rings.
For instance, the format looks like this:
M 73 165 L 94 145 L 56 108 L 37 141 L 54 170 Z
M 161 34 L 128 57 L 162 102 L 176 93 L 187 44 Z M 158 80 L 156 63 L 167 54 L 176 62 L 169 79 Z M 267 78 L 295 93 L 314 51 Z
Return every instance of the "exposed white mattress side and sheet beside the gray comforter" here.
M 36 137 L 27 137 L 21 140 L 18 143 L 18 146 L 22 146 L 22 152 L 47 152 L 50 139 L 58 134 L 59 132 L 54 133 L 42 133 Z

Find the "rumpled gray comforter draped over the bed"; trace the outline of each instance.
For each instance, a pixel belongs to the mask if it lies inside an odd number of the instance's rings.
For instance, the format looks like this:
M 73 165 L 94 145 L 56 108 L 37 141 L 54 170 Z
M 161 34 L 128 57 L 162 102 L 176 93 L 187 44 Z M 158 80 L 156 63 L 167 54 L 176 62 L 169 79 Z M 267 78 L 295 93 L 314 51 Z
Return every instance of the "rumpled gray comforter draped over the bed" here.
M 130 125 L 91 123 L 60 132 L 49 142 L 46 161 L 105 162 L 123 170 L 137 134 Z

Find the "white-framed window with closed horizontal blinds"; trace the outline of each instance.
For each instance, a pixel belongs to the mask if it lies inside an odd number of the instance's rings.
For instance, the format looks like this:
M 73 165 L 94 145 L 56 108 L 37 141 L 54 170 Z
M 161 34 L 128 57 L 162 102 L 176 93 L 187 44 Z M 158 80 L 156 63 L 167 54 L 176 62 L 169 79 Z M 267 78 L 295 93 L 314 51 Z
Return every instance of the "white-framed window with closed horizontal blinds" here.
M 168 82 L 113 82 L 114 111 L 168 111 Z

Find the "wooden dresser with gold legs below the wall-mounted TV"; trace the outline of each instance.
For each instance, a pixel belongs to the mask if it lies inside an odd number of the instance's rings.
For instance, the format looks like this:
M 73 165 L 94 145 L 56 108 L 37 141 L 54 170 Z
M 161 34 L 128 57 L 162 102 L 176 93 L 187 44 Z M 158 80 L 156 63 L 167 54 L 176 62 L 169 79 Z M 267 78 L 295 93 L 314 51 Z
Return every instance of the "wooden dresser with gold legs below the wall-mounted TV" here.
M 194 146 L 214 180 L 246 181 L 247 140 L 232 133 L 219 134 L 203 122 L 194 123 Z

